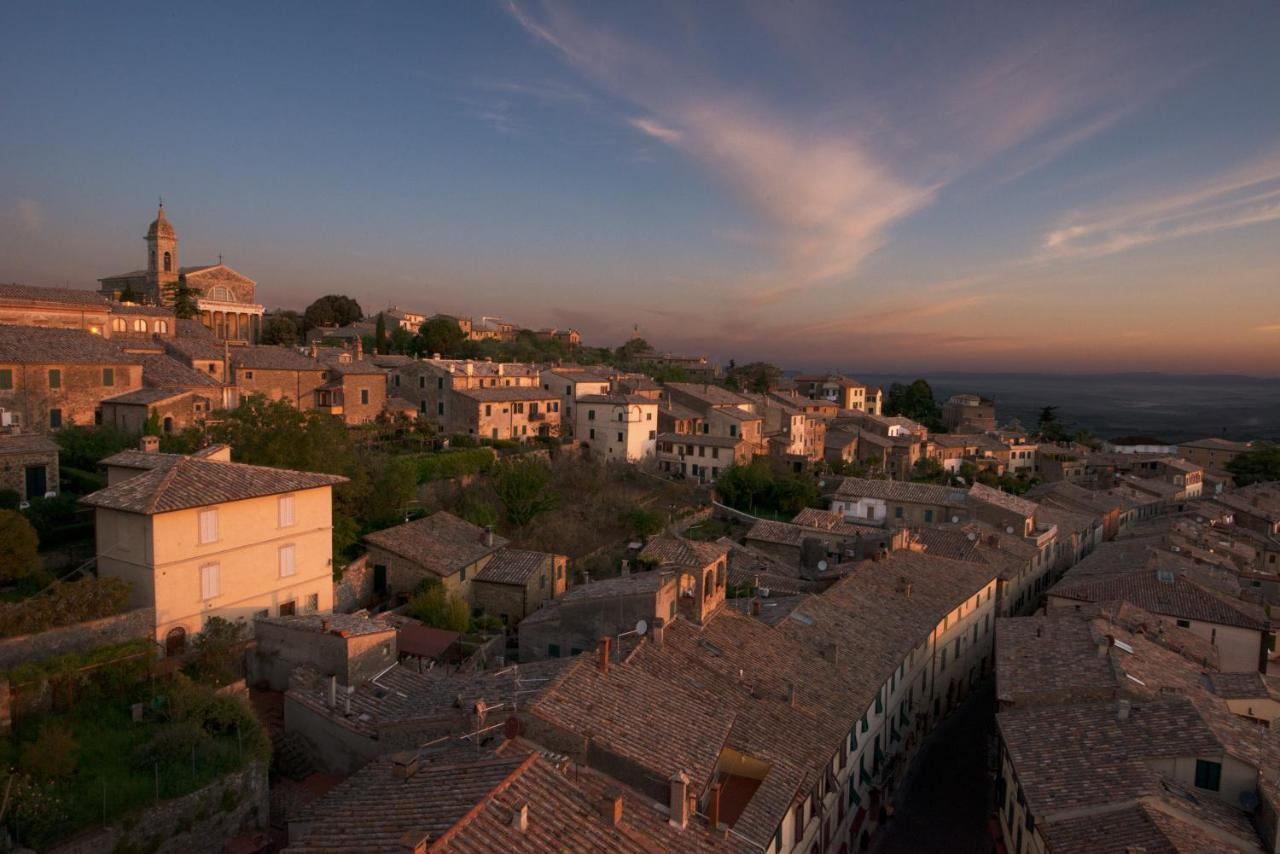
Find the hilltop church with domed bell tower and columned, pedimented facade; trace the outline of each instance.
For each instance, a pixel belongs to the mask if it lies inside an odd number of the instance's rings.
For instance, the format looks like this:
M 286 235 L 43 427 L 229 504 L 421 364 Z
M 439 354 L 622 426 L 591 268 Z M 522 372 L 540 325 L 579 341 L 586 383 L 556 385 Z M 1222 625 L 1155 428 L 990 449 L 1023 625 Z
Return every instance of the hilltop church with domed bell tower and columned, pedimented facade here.
M 109 300 L 132 294 L 133 301 L 172 305 L 179 284 L 198 294 L 200 321 L 224 341 L 257 343 L 262 332 L 262 306 L 257 303 L 257 283 L 218 264 L 178 265 L 178 233 L 165 218 L 164 205 L 147 229 L 147 266 L 142 270 L 99 279 L 99 292 Z

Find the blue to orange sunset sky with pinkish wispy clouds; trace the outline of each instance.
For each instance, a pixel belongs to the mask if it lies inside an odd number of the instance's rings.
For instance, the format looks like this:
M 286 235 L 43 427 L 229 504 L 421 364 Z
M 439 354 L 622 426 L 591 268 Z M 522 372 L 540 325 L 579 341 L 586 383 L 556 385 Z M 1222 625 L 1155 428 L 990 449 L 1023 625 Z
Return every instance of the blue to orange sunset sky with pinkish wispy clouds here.
M 0 4 L 0 280 L 1280 375 L 1280 4 Z

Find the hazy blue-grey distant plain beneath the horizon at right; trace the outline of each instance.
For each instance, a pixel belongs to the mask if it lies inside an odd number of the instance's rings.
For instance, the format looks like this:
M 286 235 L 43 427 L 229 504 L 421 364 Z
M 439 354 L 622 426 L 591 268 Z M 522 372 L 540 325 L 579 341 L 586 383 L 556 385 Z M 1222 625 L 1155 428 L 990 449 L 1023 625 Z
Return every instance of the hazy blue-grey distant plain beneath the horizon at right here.
M 918 375 L 852 376 L 888 388 Z M 1146 434 L 1169 442 L 1210 435 L 1280 442 L 1280 379 L 1178 374 L 951 374 L 927 375 L 934 397 L 980 392 L 1004 423 L 1034 426 L 1044 406 L 1059 419 L 1103 438 Z

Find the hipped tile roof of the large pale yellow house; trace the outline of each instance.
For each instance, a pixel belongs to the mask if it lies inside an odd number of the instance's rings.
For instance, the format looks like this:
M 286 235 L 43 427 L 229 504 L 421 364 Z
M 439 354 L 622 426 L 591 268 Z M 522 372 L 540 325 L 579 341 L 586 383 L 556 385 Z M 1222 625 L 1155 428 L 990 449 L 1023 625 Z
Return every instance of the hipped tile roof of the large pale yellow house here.
M 182 457 L 172 465 L 99 489 L 81 501 L 91 507 L 151 515 L 346 481 L 339 475 Z

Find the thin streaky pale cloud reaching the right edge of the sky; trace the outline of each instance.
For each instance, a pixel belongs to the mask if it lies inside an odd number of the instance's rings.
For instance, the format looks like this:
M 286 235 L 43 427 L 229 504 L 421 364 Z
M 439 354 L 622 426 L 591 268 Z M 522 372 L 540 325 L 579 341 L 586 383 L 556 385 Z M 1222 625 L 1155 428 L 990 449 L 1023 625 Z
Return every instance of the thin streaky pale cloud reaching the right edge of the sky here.
M 1102 257 L 1165 241 L 1280 220 L 1280 151 L 1181 192 L 1075 213 L 1044 234 L 1043 259 Z

